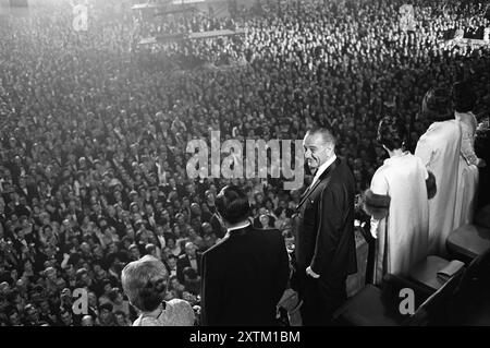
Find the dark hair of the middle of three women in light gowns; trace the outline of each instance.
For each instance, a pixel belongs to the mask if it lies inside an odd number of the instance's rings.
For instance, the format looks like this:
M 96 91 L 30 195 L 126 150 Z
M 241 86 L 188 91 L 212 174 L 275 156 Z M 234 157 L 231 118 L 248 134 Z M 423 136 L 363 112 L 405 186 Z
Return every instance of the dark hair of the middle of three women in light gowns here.
M 424 118 L 434 122 L 453 119 L 451 94 L 445 88 L 430 88 L 422 99 L 421 113 Z

